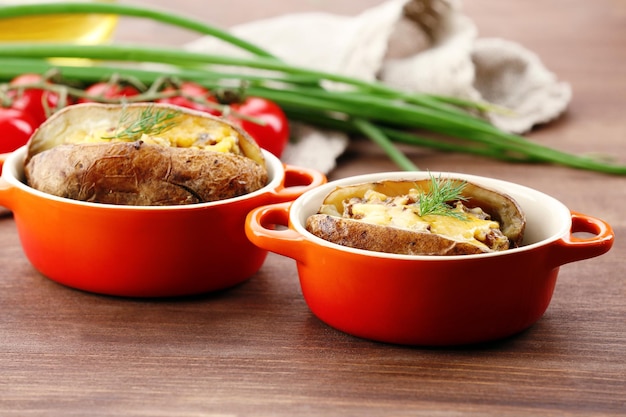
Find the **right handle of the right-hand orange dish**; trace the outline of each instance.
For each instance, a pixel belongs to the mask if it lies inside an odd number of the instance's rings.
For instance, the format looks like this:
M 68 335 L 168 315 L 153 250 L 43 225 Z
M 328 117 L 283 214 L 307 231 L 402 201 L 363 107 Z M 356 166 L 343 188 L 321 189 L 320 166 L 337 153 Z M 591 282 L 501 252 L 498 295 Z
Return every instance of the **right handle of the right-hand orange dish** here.
M 604 220 L 575 211 L 571 214 L 569 236 L 553 246 L 550 260 L 557 266 L 600 256 L 611 249 L 615 240 L 613 229 Z

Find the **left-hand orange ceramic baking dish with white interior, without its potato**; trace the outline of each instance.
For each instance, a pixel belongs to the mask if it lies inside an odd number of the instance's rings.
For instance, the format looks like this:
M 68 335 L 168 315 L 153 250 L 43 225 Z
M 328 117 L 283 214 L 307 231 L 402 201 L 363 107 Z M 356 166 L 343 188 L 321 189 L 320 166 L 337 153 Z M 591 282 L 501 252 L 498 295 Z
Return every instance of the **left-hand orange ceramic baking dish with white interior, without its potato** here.
M 248 212 L 326 182 L 263 151 L 269 182 L 240 197 L 165 207 L 87 203 L 24 184 L 26 152 L 8 156 L 0 179 L 0 205 L 13 212 L 24 253 L 54 281 L 117 296 L 190 295 L 245 281 L 267 256 L 246 238 Z

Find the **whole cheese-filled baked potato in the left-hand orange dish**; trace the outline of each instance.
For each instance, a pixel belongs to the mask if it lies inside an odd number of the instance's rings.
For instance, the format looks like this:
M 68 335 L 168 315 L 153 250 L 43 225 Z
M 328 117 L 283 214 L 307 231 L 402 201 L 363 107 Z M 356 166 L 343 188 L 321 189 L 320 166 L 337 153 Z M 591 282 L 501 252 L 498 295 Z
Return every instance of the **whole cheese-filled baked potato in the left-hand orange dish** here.
M 33 134 L 29 186 L 122 205 L 222 200 L 267 184 L 261 149 L 223 119 L 169 104 L 68 106 Z

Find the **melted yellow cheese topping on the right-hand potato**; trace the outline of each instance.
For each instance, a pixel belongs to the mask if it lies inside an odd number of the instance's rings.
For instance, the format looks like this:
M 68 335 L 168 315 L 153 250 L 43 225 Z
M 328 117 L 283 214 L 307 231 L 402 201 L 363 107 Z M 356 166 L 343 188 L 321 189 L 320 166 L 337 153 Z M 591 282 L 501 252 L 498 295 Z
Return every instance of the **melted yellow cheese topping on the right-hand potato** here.
M 487 235 L 500 228 L 498 222 L 480 209 L 466 210 L 462 204 L 454 208 L 461 218 L 429 214 L 419 214 L 419 191 L 411 190 L 408 195 L 389 197 L 385 194 L 367 191 L 364 198 L 344 201 L 341 217 L 359 220 L 369 224 L 391 226 L 415 232 L 434 233 L 456 241 L 468 242 L 487 247 Z M 321 212 L 330 214 L 332 210 L 322 207 Z

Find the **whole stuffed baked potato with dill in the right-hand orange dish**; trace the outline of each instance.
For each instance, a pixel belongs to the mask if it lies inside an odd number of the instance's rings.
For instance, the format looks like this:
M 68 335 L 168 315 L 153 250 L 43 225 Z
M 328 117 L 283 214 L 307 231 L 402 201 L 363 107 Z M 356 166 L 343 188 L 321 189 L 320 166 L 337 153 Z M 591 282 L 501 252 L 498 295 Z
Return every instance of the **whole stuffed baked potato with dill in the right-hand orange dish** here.
M 406 255 L 469 255 L 522 244 L 525 216 L 509 196 L 458 179 L 338 187 L 306 228 L 327 241 Z

